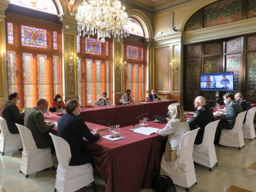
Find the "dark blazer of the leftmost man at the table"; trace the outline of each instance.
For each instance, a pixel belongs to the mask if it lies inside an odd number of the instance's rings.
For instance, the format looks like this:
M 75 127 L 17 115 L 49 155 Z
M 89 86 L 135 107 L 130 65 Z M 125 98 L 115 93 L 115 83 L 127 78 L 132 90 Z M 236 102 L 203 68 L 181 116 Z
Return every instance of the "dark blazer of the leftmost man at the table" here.
M 6 120 L 10 133 L 19 133 L 19 130 L 15 124 L 24 125 L 24 115 L 24 113 L 20 113 L 19 108 L 12 101 L 8 100 L 8 102 L 4 104 L 2 116 Z

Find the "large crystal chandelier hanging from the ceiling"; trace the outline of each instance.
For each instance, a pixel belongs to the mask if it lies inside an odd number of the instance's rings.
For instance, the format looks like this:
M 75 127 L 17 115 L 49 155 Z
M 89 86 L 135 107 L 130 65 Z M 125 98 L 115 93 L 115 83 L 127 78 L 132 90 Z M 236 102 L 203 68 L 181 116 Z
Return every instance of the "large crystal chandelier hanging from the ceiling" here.
M 118 0 L 88 0 L 77 8 L 76 20 L 79 36 L 96 35 L 100 42 L 105 38 L 129 36 L 127 13 Z

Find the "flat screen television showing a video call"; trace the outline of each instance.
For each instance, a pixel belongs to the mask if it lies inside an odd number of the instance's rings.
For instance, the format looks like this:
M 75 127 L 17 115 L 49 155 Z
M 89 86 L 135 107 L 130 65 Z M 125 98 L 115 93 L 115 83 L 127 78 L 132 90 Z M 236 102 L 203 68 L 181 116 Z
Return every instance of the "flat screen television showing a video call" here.
M 200 74 L 201 91 L 234 91 L 234 72 Z

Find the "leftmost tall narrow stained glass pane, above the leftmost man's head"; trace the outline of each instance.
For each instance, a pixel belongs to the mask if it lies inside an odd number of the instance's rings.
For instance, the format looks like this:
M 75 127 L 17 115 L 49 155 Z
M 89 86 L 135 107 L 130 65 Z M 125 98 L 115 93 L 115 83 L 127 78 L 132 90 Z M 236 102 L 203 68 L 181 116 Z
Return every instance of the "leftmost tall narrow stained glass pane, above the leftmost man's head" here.
M 15 83 L 17 83 L 16 69 L 15 52 L 7 51 L 8 95 L 17 92 L 17 88 L 15 88 Z

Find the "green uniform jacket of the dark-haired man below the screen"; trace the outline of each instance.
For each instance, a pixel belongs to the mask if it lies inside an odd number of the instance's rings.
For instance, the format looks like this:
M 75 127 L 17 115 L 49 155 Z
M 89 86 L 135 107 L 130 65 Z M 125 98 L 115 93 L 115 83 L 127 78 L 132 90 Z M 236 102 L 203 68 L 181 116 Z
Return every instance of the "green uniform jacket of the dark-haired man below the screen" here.
M 221 114 L 221 120 L 227 120 L 228 124 L 234 127 L 236 116 L 243 112 L 243 108 L 241 105 L 237 104 L 236 102 L 230 102 L 227 106 L 227 114 Z

